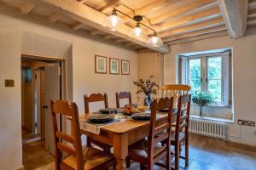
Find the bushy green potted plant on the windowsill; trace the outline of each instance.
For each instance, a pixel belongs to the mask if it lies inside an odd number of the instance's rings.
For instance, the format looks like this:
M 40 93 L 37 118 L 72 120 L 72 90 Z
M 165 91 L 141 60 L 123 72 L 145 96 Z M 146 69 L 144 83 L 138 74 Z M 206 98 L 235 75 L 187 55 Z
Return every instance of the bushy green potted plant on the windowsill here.
M 194 94 L 192 97 L 192 102 L 200 107 L 199 116 L 203 116 L 202 108 L 207 105 L 211 105 L 213 103 L 212 94 L 201 92 L 199 94 Z

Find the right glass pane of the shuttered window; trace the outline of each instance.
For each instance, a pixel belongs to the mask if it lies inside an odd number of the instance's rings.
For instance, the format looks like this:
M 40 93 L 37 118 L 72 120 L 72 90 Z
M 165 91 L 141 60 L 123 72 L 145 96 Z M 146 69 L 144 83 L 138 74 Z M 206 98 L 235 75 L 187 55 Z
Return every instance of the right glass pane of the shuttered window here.
M 215 104 L 221 104 L 221 57 L 208 58 L 207 89 L 212 94 Z

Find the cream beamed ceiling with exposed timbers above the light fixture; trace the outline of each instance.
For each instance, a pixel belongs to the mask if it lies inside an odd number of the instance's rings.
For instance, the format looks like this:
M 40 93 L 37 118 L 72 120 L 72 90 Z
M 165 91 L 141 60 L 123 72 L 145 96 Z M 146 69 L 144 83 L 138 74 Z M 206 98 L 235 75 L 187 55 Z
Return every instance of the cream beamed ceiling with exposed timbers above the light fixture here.
M 100 37 L 108 42 L 135 50 L 148 48 L 160 53 L 170 52 L 173 44 L 192 42 L 229 35 L 243 37 L 246 30 L 256 25 L 256 0 L 0 0 L 0 12 L 4 8 L 14 10 L 24 17 L 44 19 L 48 24 L 66 26 L 72 31 Z M 135 22 L 119 14 L 124 24 L 117 31 L 102 26 L 104 19 L 117 8 L 125 14 L 143 15 L 143 24 L 157 31 L 164 45 L 147 46 L 152 35 L 135 39 L 129 32 Z

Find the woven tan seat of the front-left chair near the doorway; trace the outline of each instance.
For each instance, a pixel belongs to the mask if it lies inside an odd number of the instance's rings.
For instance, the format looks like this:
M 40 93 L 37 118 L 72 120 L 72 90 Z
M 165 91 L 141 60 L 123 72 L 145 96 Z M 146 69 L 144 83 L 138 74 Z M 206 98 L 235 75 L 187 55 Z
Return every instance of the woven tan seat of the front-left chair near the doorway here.
M 114 157 L 112 155 L 108 155 L 104 153 L 102 150 L 97 150 L 93 147 L 86 147 L 83 150 L 84 155 L 84 170 L 92 169 L 95 167 L 99 167 L 108 161 L 112 161 Z M 68 156 L 62 162 L 66 163 L 68 166 L 73 167 L 73 169 L 77 169 L 77 161 L 73 156 Z

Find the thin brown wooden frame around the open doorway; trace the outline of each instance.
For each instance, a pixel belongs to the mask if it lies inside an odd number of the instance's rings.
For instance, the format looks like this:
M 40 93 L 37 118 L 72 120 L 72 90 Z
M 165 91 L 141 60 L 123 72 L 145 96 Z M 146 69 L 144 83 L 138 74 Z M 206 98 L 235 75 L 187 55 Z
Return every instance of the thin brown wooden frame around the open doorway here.
M 50 60 L 50 61 L 55 61 L 55 62 L 59 62 L 60 67 L 61 67 L 61 80 L 60 80 L 60 98 L 61 99 L 67 99 L 67 57 L 55 57 L 55 56 L 44 56 L 44 55 L 38 55 L 38 54 L 21 54 L 20 59 L 21 58 L 26 58 L 26 59 L 39 59 L 42 61 L 45 60 Z M 21 65 L 20 65 L 21 68 Z M 21 86 L 21 85 L 20 85 Z M 34 105 L 34 104 L 32 104 Z M 33 119 L 34 117 L 32 117 Z M 60 125 L 61 128 L 66 130 L 67 127 L 67 123 L 62 123 L 62 118 L 60 120 Z M 42 125 L 41 125 L 42 126 Z

